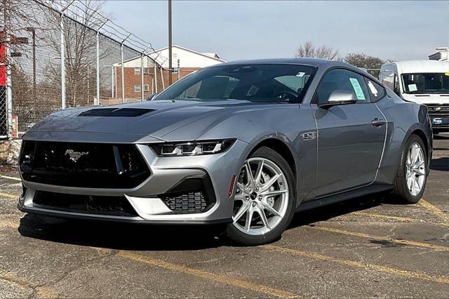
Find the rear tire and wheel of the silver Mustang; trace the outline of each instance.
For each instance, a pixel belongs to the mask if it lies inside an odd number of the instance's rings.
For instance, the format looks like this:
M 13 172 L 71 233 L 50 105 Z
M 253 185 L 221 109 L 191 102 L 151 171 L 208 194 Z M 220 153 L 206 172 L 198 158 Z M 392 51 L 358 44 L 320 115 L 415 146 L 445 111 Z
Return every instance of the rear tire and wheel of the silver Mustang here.
M 418 148 L 420 153 L 416 152 Z M 412 151 L 418 156 L 410 156 Z M 418 164 L 411 161 L 411 159 L 414 159 L 413 157 L 417 157 L 417 160 L 420 159 L 422 166 L 416 167 Z M 403 203 L 416 204 L 420 201 L 427 182 L 427 159 L 427 153 L 421 138 L 417 135 L 410 135 L 401 152 L 393 191 L 394 196 Z M 410 161 L 412 162 L 411 165 Z

